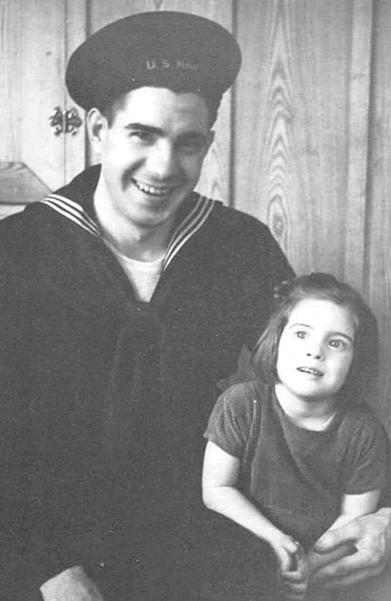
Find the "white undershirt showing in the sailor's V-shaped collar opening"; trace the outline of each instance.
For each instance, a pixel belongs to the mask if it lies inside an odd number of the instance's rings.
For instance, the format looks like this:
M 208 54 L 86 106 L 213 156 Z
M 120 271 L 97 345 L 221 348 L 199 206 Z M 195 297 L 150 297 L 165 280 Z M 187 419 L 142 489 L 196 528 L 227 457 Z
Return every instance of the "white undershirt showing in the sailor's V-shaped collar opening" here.
M 154 261 L 136 261 L 120 253 L 110 242 L 107 246 L 117 257 L 120 265 L 133 285 L 137 299 L 148 303 L 155 291 L 163 269 L 164 256 Z

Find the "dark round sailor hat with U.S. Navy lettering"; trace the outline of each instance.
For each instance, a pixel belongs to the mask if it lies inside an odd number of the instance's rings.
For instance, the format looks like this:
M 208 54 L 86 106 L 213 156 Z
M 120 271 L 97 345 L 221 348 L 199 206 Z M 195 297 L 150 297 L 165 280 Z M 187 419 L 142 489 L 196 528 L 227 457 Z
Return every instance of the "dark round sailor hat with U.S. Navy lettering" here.
M 214 21 L 172 11 L 139 13 L 110 23 L 79 46 L 66 84 L 86 110 L 103 110 L 142 86 L 197 92 L 217 109 L 240 63 L 236 40 Z

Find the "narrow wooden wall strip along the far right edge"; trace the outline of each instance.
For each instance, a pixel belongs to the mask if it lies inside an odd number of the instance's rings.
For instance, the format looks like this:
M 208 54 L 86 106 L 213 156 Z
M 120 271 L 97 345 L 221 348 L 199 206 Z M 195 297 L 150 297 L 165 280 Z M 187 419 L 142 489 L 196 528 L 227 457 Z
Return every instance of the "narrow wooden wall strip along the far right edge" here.
M 379 411 L 391 433 L 391 2 L 377 0 L 371 87 L 367 295 L 380 326 Z

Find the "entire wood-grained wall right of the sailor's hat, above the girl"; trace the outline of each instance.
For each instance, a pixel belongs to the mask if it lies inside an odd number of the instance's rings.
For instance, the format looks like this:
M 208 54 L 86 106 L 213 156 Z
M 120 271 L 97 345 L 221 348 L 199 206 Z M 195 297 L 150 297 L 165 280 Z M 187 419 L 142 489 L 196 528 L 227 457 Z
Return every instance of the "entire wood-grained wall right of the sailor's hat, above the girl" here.
M 328 271 L 379 322 L 391 433 L 391 3 L 241 0 L 235 206 L 265 221 L 298 273 Z

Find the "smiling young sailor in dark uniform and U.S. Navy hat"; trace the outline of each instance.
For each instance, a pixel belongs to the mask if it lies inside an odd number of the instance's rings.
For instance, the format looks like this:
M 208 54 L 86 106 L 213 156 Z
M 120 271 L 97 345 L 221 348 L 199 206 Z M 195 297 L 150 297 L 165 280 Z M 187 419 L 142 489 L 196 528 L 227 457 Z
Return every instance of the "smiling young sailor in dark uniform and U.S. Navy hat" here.
M 239 66 L 176 12 L 70 59 L 100 165 L 0 225 L 2 599 L 202 598 L 202 432 L 292 273 L 264 225 L 193 192 Z

